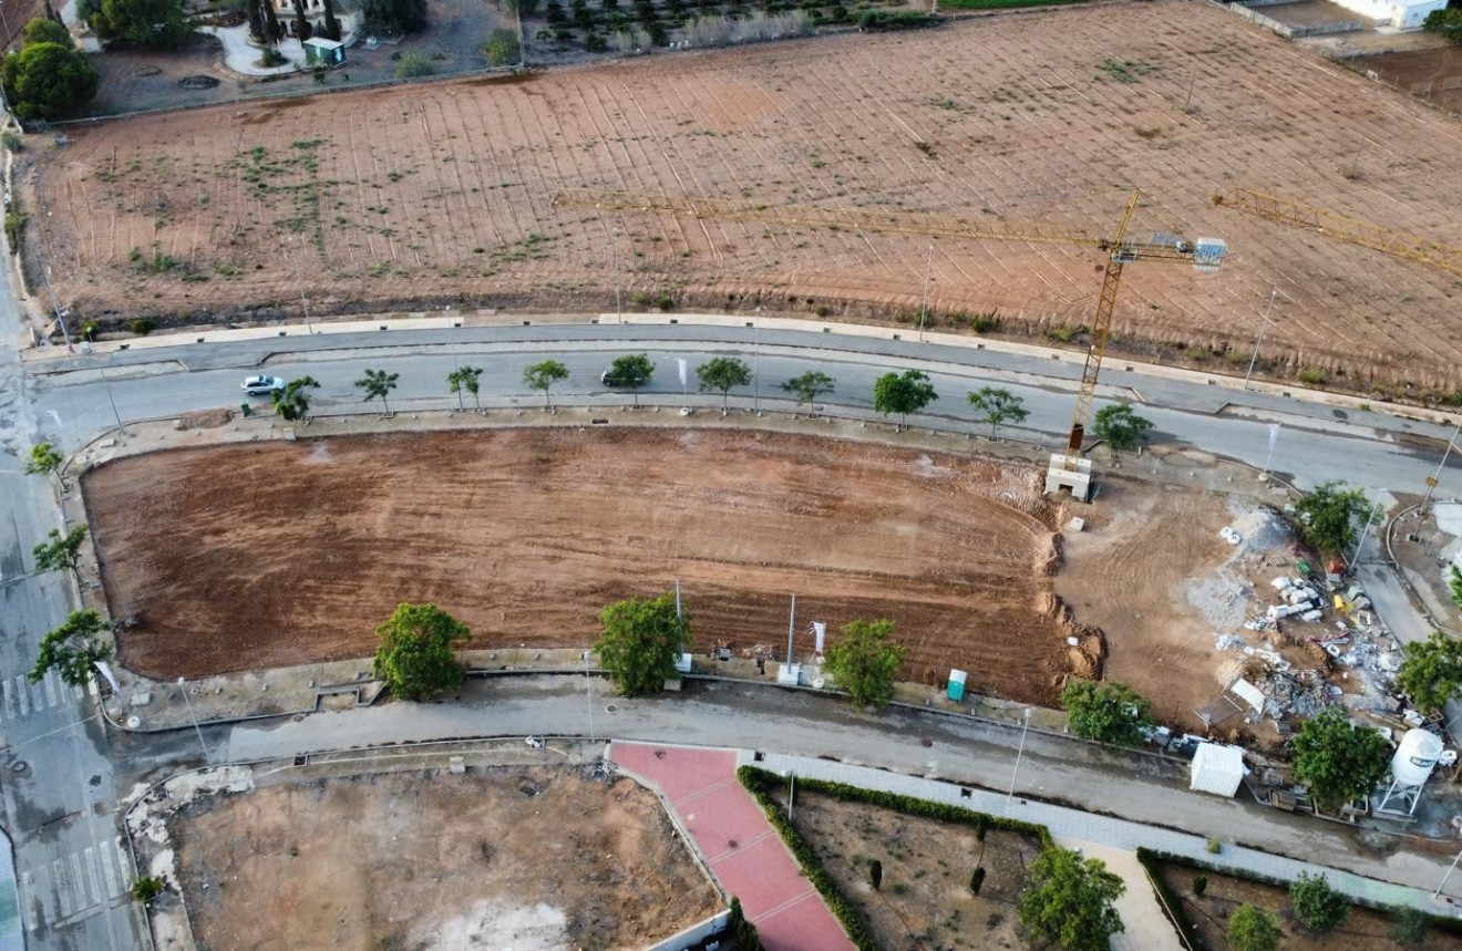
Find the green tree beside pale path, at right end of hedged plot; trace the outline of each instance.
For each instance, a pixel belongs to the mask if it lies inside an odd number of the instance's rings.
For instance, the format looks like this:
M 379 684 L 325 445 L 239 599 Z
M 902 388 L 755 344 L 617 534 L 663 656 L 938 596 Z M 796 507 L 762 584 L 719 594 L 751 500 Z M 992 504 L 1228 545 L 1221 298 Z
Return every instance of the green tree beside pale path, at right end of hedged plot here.
M 1069 951 L 1107 951 L 1111 936 L 1124 931 L 1113 906 L 1126 891 L 1101 859 L 1051 846 L 1031 865 L 1031 884 L 1018 906 L 1020 923 Z

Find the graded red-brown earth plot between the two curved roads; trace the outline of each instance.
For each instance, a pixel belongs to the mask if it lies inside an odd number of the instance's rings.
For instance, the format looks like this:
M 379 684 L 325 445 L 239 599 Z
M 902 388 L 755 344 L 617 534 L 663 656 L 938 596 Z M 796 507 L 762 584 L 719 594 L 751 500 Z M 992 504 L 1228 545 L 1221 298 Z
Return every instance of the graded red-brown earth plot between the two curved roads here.
M 370 656 L 402 600 L 474 646 L 583 647 L 599 611 L 681 580 L 699 649 L 803 646 L 895 618 L 904 679 L 1053 703 L 1101 638 L 1051 593 L 1025 467 L 816 437 L 503 429 L 137 456 L 83 479 L 123 662 L 170 681 Z M 115 609 L 114 609 L 115 611 Z

